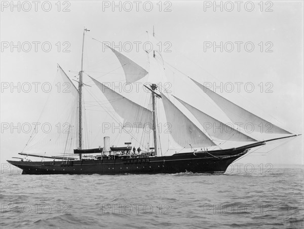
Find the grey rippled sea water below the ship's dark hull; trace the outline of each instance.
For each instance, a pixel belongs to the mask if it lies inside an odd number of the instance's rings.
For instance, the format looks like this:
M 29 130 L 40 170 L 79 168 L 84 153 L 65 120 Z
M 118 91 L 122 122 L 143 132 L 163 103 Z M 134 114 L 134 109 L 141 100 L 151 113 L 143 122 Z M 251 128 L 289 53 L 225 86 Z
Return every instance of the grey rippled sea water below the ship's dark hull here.
M 1 228 L 303 228 L 303 169 L 226 174 L 1 172 Z

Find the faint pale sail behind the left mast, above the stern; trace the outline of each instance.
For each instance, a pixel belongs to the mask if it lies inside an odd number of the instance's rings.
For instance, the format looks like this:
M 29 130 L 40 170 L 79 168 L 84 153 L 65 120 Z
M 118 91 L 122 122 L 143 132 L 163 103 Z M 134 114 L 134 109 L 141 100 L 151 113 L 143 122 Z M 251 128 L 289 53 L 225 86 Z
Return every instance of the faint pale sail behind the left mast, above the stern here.
M 79 92 L 58 65 L 56 78 L 48 93 L 41 116 L 31 127 L 23 152 L 72 153 L 79 142 Z

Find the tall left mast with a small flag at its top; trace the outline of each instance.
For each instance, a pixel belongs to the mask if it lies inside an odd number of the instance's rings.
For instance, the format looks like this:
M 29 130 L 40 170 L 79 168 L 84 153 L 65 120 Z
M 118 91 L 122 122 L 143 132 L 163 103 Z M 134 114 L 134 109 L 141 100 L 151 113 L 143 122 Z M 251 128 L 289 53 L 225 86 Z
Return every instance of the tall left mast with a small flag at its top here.
M 83 86 L 83 62 L 84 62 L 84 44 L 85 44 L 85 32 L 90 31 L 84 28 L 83 35 L 83 46 L 82 46 L 82 55 L 81 55 L 81 71 L 79 72 L 79 82 L 78 82 L 78 91 L 79 91 L 79 149 L 82 149 L 82 86 Z M 81 159 L 81 154 L 79 155 Z

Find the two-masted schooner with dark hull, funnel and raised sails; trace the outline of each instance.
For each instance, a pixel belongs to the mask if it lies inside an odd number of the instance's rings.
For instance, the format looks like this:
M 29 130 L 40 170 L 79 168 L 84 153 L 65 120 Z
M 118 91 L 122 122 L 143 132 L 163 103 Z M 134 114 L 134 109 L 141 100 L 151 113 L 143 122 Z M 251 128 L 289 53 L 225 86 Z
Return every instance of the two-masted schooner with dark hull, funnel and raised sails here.
M 133 142 L 125 142 L 127 146 L 111 146 L 111 139 L 108 136 L 104 136 L 102 147 L 85 148 L 83 145 L 83 87 L 86 84 L 83 82 L 83 53 L 85 33 L 87 31 L 90 30 L 85 28 L 83 33 L 78 87 L 73 85 L 59 65 L 57 71 L 66 82 L 72 85 L 70 90 L 73 90 L 74 99 L 77 100 L 77 106 L 73 107 L 73 111 L 78 114 L 72 119 L 77 125 L 69 126 L 68 134 L 61 136 L 64 138 L 63 142 L 65 142 L 64 151 L 58 152 L 61 155 L 36 155 L 22 151 L 19 155 L 39 157 L 42 158 L 42 161 L 9 160 L 9 163 L 23 170 L 22 174 L 224 173 L 231 163 L 248 154 L 252 148 L 262 146 L 267 142 L 297 136 L 254 115 L 254 113 L 225 99 L 190 77 L 187 80 L 193 84 L 193 87 L 202 90 L 233 123 L 250 123 L 254 131 L 267 130 L 265 133 L 268 136 L 275 134 L 276 137 L 261 141 L 256 140 L 254 137 L 245 134 L 241 129 L 234 128 L 234 126 L 213 118 L 206 111 L 192 105 L 191 101 L 184 101 L 176 95 L 170 94 L 161 85 L 157 84 L 156 79 L 153 79 L 155 80 L 154 83 L 143 85 L 145 93 L 150 94 L 151 101 L 149 107 L 145 107 L 112 90 L 106 84 L 97 81 L 89 75 L 90 79 L 107 99 L 113 111 L 123 120 L 123 127 L 129 124 L 136 124 L 132 125 L 132 128 L 141 130 L 148 128 L 151 130 L 149 133 L 152 136 L 151 138 L 150 135 L 142 137 L 141 140 L 145 141 L 145 143 L 140 142 L 140 145 L 144 148 L 135 152 L 132 150 Z M 133 84 L 139 80 L 144 80 L 146 75 L 150 73 L 121 52 L 109 46 L 107 47 L 118 58 L 125 74 L 126 83 Z M 162 60 L 162 56 L 155 50 L 149 54 L 151 54 L 150 62 L 157 58 Z M 161 63 L 164 64 L 163 60 Z M 159 69 L 162 69 L 162 67 Z M 157 101 L 160 100 L 163 104 L 167 123 L 170 124 L 170 133 L 168 134 L 180 148 L 187 149 L 187 152 L 176 152 L 171 156 L 163 156 L 159 140 L 157 113 Z M 185 115 L 182 109 L 178 108 L 181 106 L 192 114 L 195 121 Z M 216 128 L 207 128 L 208 125 Z M 70 134 L 71 130 L 74 130 L 75 135 Z M 29 142 L 31 140 L 30 138 Z M 241 142 L 244 144 L 236 147 L 221 148 L 220 144 L 215 143 L 216 141 Z M 68 145 L 74 147 L 73 154 L 66 154 Z M 54 160 L 45 161 L 45 158 Z

